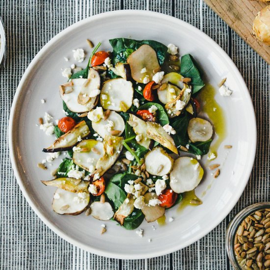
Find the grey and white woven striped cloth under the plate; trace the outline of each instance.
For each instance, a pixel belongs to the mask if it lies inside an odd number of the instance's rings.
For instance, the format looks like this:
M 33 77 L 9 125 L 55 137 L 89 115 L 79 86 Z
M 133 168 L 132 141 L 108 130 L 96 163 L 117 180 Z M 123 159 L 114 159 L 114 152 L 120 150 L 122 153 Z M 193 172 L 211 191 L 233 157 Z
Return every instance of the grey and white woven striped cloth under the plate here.
M 38 51 L 64 28 L 118 9 L 152 10 L 175 16 L 213 38 L 237 65 L 256 113 L 257 154 L 242 197 L 212 232 L 187 248 L 147 260 L 97 256 L 62 240 L 34 214 L 14 177 L 7 143 L 16 87 Z M 2 270 L 229 270 L 225 229 L 244 207 L 270 200 L 270 66 L 202 0 L 1 0 L 7 60 L 0 68 L 0 267 Z M 162 246 L 162 243 L 161 243 Z

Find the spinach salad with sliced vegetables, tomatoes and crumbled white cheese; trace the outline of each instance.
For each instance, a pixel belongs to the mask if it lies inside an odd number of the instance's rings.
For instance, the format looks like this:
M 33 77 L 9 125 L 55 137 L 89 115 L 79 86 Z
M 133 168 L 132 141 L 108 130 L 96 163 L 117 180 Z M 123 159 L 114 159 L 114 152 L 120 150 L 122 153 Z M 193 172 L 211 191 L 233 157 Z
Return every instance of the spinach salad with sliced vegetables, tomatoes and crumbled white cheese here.
M 54 179 L 41 182 L 57 188 L 55 213 L 85 211 L 131 230 L 162 218 L 200 184 L 198 160 L 209 153 L 213 126 L 198 115 L 204 82 L 190 54 L 180 58 L 175 45 L 154 40 L 109 43 L 111 52 L 99 51 L 101 43 L 93 49 L 85 69 L 65 71 L 65 117 L 40 122 L 56 135 L 43 152 L 65 155 Z

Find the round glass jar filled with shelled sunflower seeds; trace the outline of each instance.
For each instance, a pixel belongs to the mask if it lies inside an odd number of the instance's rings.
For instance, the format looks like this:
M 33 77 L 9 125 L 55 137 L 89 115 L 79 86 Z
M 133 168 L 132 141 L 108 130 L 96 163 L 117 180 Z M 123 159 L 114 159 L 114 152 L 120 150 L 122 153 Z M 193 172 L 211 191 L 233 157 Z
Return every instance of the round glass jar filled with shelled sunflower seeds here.
M 230 221 L 226 249 L 236 270 L 270 270 L 270 202 L 248 206 Z

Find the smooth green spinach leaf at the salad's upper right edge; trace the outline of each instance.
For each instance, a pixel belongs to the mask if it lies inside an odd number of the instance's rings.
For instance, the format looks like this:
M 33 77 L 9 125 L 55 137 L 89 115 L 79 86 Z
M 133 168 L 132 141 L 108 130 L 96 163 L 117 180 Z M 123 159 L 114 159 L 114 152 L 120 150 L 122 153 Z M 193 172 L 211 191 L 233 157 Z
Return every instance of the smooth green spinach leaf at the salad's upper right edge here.
M 181 75 L 191 79 L 192 94 L 195 94 L 204 86 L 200 72 L 196 67 L 195 60 L 190 54 L 185 54 L 181 57 L 180 70 Z

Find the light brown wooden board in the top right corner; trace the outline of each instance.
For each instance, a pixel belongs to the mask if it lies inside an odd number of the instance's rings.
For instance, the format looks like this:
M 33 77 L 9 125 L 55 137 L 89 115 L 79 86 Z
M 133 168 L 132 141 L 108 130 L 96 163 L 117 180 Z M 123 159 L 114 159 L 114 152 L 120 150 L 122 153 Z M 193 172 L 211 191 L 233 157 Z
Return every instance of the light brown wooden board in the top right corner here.
M 204 0 L 243 40 L 270 64 L 270 46 L 258 41 L 252 33 L 257 13 L 270 4 L 260 0 Z

